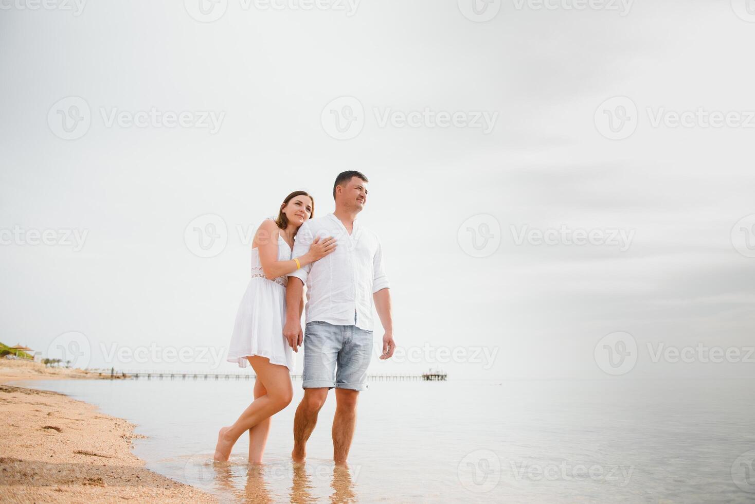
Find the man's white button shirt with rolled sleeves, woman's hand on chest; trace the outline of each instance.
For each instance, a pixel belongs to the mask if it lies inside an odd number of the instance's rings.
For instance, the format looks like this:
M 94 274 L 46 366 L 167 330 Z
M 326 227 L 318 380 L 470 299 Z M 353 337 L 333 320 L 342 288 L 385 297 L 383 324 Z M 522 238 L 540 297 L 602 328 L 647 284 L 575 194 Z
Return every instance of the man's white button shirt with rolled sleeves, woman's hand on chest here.
M 383 271 L 380 239 L 359 226 L 359 220 L 354 221 L 349 235 L 341 220 L 328 214 L 302 224 L 291 258 L 307 254 L 315 236 L 336 238 L 334 252 L 288 274 L 307 284 L 307 322 L 372 330 L 372 294 L 390 287 Z

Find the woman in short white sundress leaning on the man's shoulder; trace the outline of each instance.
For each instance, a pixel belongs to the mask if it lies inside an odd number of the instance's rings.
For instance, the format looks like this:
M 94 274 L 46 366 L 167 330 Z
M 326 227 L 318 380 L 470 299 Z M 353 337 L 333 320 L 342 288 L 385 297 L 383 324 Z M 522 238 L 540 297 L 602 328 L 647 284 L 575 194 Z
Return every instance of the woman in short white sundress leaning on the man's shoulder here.
M 310 250 L 291 259 L 294 235 L 312 217 L 315 203 L 304 191 L 291 192 L 281 204 L 276 220 L 265 220 L 254 235 L 251 249 L 251 280 L 236 314 L 228 361 L 254 368 L 254 402 L 233 426 L 217 435 L 214 459 L 225 461 L 233 444 L 249 431 L 249 462 L 262 463 L 270 431 L 270 416 L 291 402 L 289 371 L 294 370 L 294 351 L 283 337 L 285 286 L 288 273 L 322 259 L 335 249 L 334 238 L 315 238 Z

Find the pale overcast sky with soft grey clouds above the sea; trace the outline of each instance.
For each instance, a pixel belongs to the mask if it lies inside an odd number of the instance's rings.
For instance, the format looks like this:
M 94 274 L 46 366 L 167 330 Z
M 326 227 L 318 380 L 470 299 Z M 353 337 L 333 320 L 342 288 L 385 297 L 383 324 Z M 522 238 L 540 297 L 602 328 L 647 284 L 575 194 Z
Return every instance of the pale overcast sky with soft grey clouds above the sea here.
M 755 15 L 573 3 L 3 4 L 0 341 L 236 372 L 254 229 L 356 169 L 408 352 L 372 373 L 755 376 Z

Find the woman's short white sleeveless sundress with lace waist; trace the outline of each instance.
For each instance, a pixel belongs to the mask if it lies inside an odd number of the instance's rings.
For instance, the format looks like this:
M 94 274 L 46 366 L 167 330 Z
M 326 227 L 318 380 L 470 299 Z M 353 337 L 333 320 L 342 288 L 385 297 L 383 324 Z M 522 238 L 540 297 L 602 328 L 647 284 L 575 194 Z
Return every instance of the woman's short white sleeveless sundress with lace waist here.
M 290 259 L 291 247 L 279 235 L 278 260 Z M 283 337 L 287 281 L 285 275 L 268 280 L 262 271 L 259 250 L 251 249 L 251 279 L 236 312 L 227 361 L 246 367 L 247 356 L 259 355 L 269 358 L 271 364 L 294 370 L 294 351 Z

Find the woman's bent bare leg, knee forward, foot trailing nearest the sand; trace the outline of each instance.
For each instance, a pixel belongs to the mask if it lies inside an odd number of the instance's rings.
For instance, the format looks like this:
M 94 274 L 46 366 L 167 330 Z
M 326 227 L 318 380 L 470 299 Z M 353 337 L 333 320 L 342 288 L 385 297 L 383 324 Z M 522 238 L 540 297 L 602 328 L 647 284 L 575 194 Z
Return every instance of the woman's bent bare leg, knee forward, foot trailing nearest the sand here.
M 217 445 L 213 457 L 215 460 L 227 460 L 233 444 L 244 432 L 288 406 L 294 395 L 288 367 L 270 364 L 270 360 L 257 355 L 249 357 L 248 360 L 251 367 L 254 367 L 257 380 L 260 380 L 267 390 L 267 394 L 254 399 L 254 402 L 236 419 L 233 426 L 220 429 L 217 433 Z

